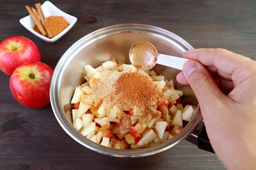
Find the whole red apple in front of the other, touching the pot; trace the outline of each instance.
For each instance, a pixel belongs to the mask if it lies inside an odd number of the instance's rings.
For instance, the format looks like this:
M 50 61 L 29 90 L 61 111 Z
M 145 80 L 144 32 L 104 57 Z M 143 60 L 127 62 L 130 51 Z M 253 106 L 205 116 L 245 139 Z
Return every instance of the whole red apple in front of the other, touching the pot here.
M 27 62 L 12 73 L 9 86 L 14 98 L 29 108 L 42 108 L 50 102 L 52 68 L 42 62 Z

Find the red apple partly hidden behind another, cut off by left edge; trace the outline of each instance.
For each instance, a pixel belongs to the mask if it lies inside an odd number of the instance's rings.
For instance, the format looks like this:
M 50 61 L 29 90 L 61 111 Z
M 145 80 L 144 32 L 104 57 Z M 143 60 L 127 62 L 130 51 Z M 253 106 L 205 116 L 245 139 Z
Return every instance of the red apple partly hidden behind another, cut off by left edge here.
M 0 42 L 0 70 L 9 76 L 26 62 L 40 62 L 41 55 L 31 40 L 15 36 Z

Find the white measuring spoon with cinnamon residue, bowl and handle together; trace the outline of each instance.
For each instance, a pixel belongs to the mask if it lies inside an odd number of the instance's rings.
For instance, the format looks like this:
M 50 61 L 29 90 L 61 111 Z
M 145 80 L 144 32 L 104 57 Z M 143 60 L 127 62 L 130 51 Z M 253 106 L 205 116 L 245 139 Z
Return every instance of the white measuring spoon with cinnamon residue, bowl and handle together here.
M 140 70 L 149 70 L 154 65 L 166 65 L 168 67 L 183 70 L 183 65 L 188 59 L 158 54 L 157 49 L 149 42 L 136 42 L 130 49 L 131 63 Z

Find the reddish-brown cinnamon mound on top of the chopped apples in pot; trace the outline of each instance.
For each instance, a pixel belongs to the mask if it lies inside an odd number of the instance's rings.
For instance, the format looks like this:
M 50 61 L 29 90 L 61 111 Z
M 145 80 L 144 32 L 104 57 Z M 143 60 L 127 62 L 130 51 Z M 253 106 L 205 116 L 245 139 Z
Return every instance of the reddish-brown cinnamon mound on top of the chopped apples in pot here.
M 118 105 L 121 110 L 133 108 L 134 112 L 144 114 L 150 107 L 156 108 L 164 99 L 163 93 L 153 84 L 151 78 L 136 71 L 120 75 L 113 97 L 116 97 L 113 105 Z

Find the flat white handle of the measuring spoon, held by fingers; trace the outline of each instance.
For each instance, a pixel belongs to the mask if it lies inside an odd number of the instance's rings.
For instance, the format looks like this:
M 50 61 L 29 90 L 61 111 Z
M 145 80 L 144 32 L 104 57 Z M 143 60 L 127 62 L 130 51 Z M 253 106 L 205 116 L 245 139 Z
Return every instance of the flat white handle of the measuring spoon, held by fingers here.
M 168 67 L 176 68 L 179 70 L 183 70 L 183 64 L 187 61 L 188 59 L 180 58 L 180 57 L 174 57 L 174 56 L 169 56 L 165 54 L 158 54 L 158 59 L 157 59 L 157 64 L 160 65 L 165 65 Z

